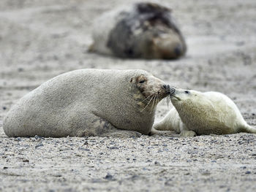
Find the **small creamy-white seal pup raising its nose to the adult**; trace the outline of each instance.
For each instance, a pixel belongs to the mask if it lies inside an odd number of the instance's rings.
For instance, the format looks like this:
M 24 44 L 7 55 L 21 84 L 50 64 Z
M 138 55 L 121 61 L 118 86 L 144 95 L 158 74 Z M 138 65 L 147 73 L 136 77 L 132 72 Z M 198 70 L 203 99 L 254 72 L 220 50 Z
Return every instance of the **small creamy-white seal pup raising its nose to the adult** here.
M 173 108 L 154 125 L 157 130 L 170 130 L 183 137 L 201 134 L 256 134 L 236 104 L 222 93 L 170 88 Z M 175 90 L 175 91 L 174 91 Z

